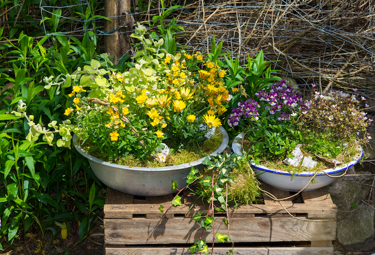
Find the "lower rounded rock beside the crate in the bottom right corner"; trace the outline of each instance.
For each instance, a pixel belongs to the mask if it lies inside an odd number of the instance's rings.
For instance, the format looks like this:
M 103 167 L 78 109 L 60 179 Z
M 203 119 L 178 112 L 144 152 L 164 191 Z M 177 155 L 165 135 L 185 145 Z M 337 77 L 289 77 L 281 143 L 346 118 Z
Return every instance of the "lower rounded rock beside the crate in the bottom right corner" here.
M 342 215 L 337 224 L 337 240 L 351 251 L 368 251 L 375 248 L 374 210 L 365 205 Z

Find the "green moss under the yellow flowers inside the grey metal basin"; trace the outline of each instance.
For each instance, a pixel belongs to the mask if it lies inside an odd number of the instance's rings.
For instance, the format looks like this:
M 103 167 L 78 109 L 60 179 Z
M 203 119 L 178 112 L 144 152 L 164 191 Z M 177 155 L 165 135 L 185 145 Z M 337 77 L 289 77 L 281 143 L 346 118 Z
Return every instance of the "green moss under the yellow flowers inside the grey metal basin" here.
M 208 156 L 219 148 L 221 142 L 222 134 L 219 129 L 216 129 L 215 134 L 202 143 L 202 145 L 198 149 L 198 152 L 195 152 L 192 148 L 187 150 L 180 149 L 176 153 L 170 153 L 166 158 L 166 162 L 164 163 L 157 162 L 153 159 L 137 159 L 132 155 L 128 155 L 126 157 L 118 157 L 118 159 L 115 161 L 108 157 L 104 157 L 104 154 L 98 150 L 90 152 L 95 147 L 95 145 L 93 143 L 90 143 L 89 141 L 87 141 L 82 146 L 82 148 L 96 158 L 118 165 L 126 165 L 129 167 L 163 167 L 184 164 Z

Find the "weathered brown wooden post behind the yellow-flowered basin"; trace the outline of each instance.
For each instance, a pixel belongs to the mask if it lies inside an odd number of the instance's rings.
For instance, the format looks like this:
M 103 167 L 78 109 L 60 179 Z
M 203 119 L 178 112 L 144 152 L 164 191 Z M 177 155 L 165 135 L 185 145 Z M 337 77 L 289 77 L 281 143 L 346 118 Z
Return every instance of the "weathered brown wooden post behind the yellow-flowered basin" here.
M 104 20 L 104 31 L 108 33 L 104 37 L 104 47 L 115 64 L 130 49 L 127 31 L 132 30 L 134 24 L 130 4 L 131 0 L 105 0 L 104 3 L 104 15 L 110 19 Z

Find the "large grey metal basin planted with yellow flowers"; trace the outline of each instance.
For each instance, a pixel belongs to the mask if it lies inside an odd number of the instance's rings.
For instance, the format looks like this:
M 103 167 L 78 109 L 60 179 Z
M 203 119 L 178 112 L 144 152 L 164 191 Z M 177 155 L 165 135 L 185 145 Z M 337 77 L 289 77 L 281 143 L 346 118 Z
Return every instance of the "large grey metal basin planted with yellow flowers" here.
M 228 133 L 222 126 L 219 128 L 222 132 L 222 143 L 210 156 L 223 152 L 229 143 Z M 205 159 L 166 167 L 129 167 L 105 162 L 91 156 L 81 148 L 76 135 L 73 136 L 73 145 L 82 156 L 89 160 L 91 169 L 99 180 L 113 189 L 134 196 L 172 194 L 172 180 L 178 182 L 178 189 L 183 188 L 191 167 L 201 168 L 202 161 Z

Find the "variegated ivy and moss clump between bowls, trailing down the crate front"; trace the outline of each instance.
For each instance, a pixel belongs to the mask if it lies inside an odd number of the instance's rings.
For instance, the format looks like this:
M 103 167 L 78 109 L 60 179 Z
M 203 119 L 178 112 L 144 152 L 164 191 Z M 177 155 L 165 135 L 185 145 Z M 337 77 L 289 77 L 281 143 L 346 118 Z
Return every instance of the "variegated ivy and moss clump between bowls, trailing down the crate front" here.
M 232 242 L 229 231 L 228 234 L 222 234 L 215 230 L 215 220 L 217 219 L 215 214 L 225 213 L 226 217 L 222 221 L 229 228 L 228 208 L 231 205 L 237 207 L 240 204 L 252 203 L 259 196 L 259 181 L 247 160 L 246 157 L 239 157 L 237 154 L 225 153 L 210 159 L 206 158 L 203 164 L 207 165 L 207 168 L 201 172 L 194 168 L 191 169 L 187 176 L 185 188 L 189 188 L 192 183 L 195 183 L 190 194 L 207 203 L 209 208 L 206 215 L 199 212 L 193 216 L 193 220 L 202 227 L 202 232 L 198 240 L 188 248 L 192 254 L 195 252 L 208 254 L 207 241 L 212 243 L 215 240 Z M 172 190 L 175 190 L 176 187 L 177 183 L 172 180 Z M 181 205 L 179 194 L 183 190 L 178 190 L 178 194 L 171 202 L 174 206 Z M 159 210 L 167 212 L 168 208 L 164 211 L 163 206 L 161 206 Z M 209 229 L 212 229 L 212 232 L 216 231 L 213 236 L 214 239 L 203 240 L 203 231 Z M 232 247 L 229 252 L 234 253 L 234 248 Z

